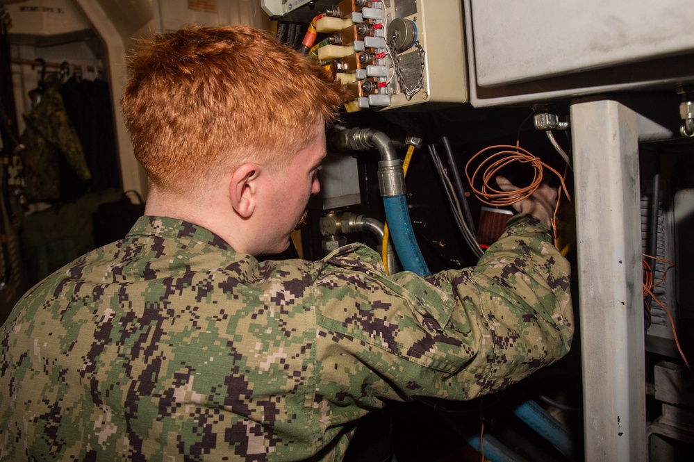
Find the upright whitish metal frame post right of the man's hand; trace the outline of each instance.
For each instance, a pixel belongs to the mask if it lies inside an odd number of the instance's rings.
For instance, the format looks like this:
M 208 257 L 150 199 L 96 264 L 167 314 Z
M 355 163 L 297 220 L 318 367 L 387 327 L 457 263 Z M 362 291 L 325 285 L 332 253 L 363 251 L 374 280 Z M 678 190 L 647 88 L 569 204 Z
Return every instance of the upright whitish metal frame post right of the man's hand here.
M 672 131 L 617 101 L 570 109 L 586 461 L 645 461 L 638 142 Z

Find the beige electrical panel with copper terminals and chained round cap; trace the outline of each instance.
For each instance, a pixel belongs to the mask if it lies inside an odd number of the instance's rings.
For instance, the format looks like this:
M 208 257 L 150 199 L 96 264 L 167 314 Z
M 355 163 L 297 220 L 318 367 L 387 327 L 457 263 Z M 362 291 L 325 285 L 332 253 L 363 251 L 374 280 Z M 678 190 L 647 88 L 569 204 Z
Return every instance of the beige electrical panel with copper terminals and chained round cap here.
M 320 5 L 312 22 L 320 41 L 306 53 L 336 69 L 349 89 L 349 112 L 468 101 L 459 0 Z

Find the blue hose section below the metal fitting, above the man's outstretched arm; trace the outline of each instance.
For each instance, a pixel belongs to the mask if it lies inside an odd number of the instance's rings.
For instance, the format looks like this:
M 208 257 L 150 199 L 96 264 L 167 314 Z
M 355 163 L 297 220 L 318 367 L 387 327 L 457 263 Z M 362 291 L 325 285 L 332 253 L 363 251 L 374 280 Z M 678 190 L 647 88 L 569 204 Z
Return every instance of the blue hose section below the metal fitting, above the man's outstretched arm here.
M 383 197 L 383 206 L 386 208 L 390 236 L 403 269 L 420 276 L 431 274 L 415 239 L 405 195 Z

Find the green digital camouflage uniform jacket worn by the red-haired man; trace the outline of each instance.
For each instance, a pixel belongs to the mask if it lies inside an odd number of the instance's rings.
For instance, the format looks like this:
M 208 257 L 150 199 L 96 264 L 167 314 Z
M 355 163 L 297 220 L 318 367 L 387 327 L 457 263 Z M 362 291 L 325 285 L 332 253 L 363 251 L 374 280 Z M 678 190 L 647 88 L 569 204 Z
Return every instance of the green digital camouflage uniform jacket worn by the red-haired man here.
M 518 215 L 475 268 L 386 277 L 362 245 L 258 263 L 142 217 L 0 332 L 0 459 L 339 461 L 383 399 L 469 399 L 568 352 L 550 241 Z

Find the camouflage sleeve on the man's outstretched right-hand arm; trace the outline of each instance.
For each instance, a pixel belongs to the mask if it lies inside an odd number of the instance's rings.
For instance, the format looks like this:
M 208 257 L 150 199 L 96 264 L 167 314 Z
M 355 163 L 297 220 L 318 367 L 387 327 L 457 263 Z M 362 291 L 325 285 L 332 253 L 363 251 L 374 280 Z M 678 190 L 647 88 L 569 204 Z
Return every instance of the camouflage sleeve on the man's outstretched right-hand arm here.
M 347 250 L 327 256 L 316 279 L 321 418 L 357 417 L 341 415 L 350 402 L 470 399 L 568 352 L 570 266 L 528 215 L 463 271 L 388 278 L 368 249 Z

